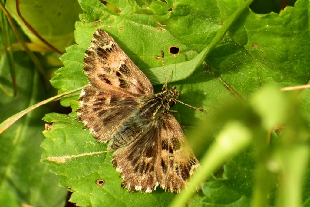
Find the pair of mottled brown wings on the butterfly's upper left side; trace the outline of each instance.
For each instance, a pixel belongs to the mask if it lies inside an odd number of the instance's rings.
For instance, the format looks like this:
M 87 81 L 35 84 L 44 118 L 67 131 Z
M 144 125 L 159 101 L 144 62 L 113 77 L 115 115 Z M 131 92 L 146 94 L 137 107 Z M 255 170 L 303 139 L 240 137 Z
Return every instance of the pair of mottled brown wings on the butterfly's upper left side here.
M 126 118 L 138 110 L 153 86 L 111 36 L 98 29 L 84 58 L 89 85 L 80 95 L 79 119 L 95 138 L 107 142 Z M 112 143 L 110 143 L 112 144 Z

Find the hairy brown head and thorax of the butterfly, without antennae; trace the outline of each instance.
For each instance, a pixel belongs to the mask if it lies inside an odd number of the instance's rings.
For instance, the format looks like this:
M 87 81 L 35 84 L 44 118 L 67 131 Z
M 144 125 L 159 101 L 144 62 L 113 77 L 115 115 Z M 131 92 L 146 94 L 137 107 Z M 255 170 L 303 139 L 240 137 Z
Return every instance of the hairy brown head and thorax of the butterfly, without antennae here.
M 140 117 L 145 119 L 160 120 L 169 111 L 179 96 L 179 90 L 175 86 L 169 90 L 164 86 L 162 91 L 145 97 L 140 107 Z

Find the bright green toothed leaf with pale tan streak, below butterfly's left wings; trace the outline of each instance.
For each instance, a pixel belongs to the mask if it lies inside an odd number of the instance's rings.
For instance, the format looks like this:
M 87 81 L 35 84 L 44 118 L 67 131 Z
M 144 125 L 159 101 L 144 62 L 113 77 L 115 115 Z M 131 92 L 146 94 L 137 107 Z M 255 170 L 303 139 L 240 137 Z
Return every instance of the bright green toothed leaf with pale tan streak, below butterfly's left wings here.
M 41 147 L 46 149 L 42 160 L 51 171 L 60 175 L 60 185 L 73 194 L 70 201 L 78 206 L 166 206 L 175 196 L 157 189 L 153 193 L 129 193 L 121 188 L 122 179 L 111 163 L 112 152 L 105 144 L 95 141 L 89 130 L 76 119 L 76 113 L 47 114 L 45 121 L 54 122 L 51 130 L 43 132 Z M 99 186 L 96 180 L 104 180 Z M 199 196 L 199 195 L 197 195 Z M 197 204 L 197 196 L 192 205 Z

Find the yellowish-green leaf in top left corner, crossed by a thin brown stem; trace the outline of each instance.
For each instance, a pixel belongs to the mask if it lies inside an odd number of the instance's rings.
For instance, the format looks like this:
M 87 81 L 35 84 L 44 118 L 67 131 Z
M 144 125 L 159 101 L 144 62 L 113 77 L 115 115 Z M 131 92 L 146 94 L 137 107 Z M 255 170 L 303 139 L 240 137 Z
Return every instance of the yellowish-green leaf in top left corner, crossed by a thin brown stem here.
M 7 0 L 6 8 L 32 42 L 47 47 L 20 19 L 16 12 L 15 0 Z M 75 0 L 35 0 L 20 1 L 20 12 L 43 39 L 64 51 L 65 47 L 73 44 L 74 22 L 78 20 L 78 14 L 82 11 Z

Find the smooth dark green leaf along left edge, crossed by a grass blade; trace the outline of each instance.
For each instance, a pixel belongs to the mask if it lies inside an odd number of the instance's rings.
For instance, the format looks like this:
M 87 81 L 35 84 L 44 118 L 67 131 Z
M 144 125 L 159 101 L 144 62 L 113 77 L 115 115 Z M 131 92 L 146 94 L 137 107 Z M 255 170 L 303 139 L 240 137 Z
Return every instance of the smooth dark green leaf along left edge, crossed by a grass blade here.
M 46 97 L 40 77 L 25 52 L 14 53 L 15 97 L 0 94 L 0 122 Z M 1 57 L 0 80 L 11 85 L 5 56 Z M 59 178 L 40 163 L 44 138 L 41 117 L 49 110 L 38 108 L 27 114 L 0 135 L 0 206 L 63 206 L 66 191 L 58 186 Z

